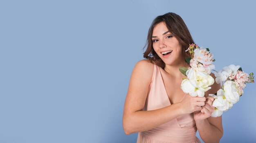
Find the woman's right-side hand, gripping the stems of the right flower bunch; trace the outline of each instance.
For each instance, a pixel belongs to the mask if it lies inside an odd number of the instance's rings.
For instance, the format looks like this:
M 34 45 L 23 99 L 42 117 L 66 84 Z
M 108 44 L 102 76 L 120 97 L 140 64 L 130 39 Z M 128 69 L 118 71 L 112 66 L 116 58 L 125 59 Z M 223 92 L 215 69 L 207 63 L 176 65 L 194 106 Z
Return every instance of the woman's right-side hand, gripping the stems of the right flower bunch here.
M 202 110 L 194 112 L 195 121 L 202 121 L 211 116 L 211 113 L 213 113 L 213 110 L 215 108 L 214 106 L 212 106 L 213 101 L 214 101 L 213 97 L 207 96 L 205 105 L 202 106 Z

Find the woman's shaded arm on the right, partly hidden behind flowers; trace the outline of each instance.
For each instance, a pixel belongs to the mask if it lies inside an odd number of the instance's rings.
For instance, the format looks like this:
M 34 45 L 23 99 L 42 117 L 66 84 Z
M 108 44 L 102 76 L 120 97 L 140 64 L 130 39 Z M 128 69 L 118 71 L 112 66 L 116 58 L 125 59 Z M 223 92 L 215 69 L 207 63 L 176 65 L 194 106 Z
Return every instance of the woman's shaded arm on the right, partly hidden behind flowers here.
M 211 76 L 215 79 L 214 74 L 211 74 Z M 214 84 L 211 86 L 211 89 L 207 91 L 205 95 L 208 96 L 209 93 L 217 93 L 219 89 L 220 84 L 214 82 Z M 202 120 L 195 119 L 196 127 L 198 128 L 200 137 L 205 143 L 218 143 L 223 136 L 222 117 L 210 117 L 214 110 L 214 107 L 212 106 L 213 100 L 214 99 L 212 97 L 208 96 L 206 104 L 202 108 L 202 112 L 194 113 L 194 116 L 196 114 L 200 114 L 201 116 L 206 117 L 206 119 L 201 118 Z

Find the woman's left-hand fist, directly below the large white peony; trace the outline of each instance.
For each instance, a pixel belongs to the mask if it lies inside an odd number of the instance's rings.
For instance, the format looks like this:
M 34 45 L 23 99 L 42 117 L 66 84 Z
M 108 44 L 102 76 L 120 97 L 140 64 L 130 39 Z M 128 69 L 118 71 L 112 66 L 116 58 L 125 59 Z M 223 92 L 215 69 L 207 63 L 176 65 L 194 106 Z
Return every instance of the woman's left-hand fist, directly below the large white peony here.
M 205 97 L 193 97 L 191 95 L 186 94 L 185 98 L 180 102 L 182 104 L 182 113 L 190 114 L 195 111 L 201 111 L 202 106 L 204 106 L 206 101 Z

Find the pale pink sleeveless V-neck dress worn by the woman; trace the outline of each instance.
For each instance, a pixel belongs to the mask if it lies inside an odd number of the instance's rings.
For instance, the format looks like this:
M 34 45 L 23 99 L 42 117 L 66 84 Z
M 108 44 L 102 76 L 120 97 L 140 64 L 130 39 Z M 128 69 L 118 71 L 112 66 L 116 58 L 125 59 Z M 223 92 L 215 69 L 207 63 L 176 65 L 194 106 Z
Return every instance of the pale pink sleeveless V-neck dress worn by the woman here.
M 154 64 L 144 111 L 171 105 L 159 68 L 161 67 Z M 137 143 L 201 143 L 195 136 L 196 131 L 193 113 L 185 114 L 150 130 L 139 132 Z

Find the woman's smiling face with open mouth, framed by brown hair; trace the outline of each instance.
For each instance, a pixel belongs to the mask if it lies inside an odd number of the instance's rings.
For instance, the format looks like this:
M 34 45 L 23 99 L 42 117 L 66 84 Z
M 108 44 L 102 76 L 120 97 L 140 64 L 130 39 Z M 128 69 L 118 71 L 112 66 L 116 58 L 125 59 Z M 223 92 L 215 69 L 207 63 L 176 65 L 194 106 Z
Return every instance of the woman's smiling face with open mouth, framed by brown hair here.
M 166 65 L 175 65 L 184 61 L 182 45 L 167 29 L 164 22 L 157 24 L 153 29 L 152 42 L 155 52 Z

